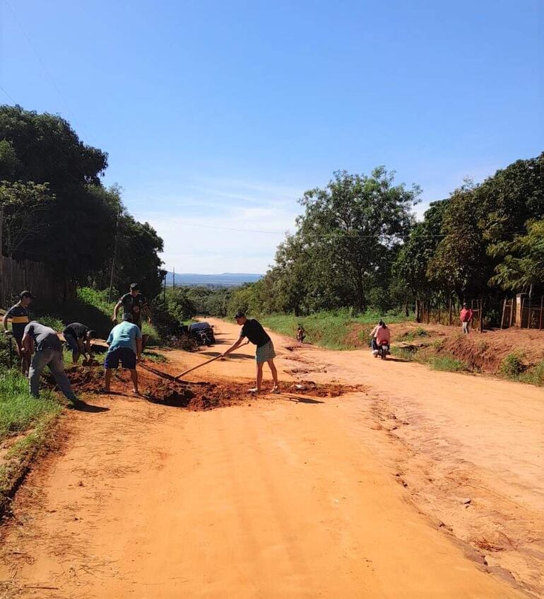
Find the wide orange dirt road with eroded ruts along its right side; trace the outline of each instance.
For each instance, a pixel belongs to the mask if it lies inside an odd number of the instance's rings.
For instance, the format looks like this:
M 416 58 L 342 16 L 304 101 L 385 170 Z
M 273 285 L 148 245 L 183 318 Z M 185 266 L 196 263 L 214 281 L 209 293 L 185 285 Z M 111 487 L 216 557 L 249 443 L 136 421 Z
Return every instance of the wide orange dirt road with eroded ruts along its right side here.
M 4 595 L 538 596 L 542 390 L 273 339 L 283 380 L 367 390 L 208 412 L 90 396 L 107 410 L 67 414 L 14 502 Z M 253 369 L 244 347 L 191 377 Z

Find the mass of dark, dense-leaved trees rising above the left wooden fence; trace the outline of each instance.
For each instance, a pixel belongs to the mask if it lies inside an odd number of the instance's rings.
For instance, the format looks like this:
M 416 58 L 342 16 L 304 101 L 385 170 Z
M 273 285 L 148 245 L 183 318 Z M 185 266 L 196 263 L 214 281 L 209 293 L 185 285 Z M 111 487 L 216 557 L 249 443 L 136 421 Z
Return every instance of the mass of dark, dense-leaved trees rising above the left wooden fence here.
M 107 286 L 115 253 L 115 286 L 138 280 L 153 297 L 163 276 L 162 239 L 128 214 L 119 188 L 102 185 L 106 168 L 107 153 L 84 144 L 61 117 L 0 106 L 0 203 L 11 219 L 6 226 L 24 226 L 6 240 L 10 254 L 48 262 L 61 279 Z M 15 217 L 21 201 L 28 214 Z

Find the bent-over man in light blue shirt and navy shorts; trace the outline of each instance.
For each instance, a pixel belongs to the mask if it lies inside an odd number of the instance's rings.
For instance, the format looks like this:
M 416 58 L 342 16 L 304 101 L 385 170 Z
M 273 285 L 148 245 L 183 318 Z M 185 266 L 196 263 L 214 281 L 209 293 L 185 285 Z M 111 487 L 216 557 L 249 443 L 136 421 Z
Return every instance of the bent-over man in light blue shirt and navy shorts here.
M 106 343 L 110 346 L 107 350 L 104 360 L 105 378 L 104 390 L 110 392 L 110 383 L 112 382 L 112 371 L 119 366 L 130 371 L 132 379 L 133 392 L 138 394 L 138 373 L 136 372 L 136 362 L 140 360 L 142 351 L 142 334 L 139 327 L 133 324 L 132 315 L 124 313 L 123 322 L 115 325 L 110 331 L 110 337 Z

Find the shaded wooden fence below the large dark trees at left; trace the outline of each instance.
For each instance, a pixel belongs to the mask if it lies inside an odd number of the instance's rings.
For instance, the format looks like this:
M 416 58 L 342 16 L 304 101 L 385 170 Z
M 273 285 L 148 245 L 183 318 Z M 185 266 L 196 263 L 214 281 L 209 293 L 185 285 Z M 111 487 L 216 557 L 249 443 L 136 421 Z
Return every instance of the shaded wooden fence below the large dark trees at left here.
M 15 303 L 23 289 L 43 301 L 63 302 L 76 296 L 76 286 L 55 277 L 47 264 L 0 256 L 1 306 L 7 308 Z

